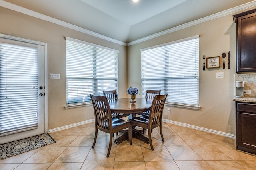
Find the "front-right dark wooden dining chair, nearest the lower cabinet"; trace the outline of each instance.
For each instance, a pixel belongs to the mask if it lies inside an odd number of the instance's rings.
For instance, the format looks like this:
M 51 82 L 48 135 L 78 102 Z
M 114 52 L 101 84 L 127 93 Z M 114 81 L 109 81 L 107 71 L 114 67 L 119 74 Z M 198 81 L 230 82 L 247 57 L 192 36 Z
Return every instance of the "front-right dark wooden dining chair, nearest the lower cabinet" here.
M 163 95 L 156 95 L 153 99 L 150 113 L 149 113 L 149 119 L 145 119 L 144 117 L 134 117 L 133 119 L 130 119 L 130 122 L 132 122 L 132 125 L 142 127 L 143 129 L 148 129 L 148 140 L 150 143 L 151 150 L 154 150 L 153 144 L 152 144 L 152 129 L 159 127 L 160 128 L 160 134 L 162 137 L 162 141 L 164 142 L 164 136 L 162 132 L 162 119 L 163 119 L 163 109 L 164 104 L 166 101 L 168 94 Z

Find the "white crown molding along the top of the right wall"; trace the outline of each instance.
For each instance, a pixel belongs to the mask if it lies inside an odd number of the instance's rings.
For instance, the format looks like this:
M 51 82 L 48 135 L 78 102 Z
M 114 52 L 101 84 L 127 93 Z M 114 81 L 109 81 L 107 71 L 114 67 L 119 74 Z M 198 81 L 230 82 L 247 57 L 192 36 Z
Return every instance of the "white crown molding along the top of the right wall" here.
M 188 22 L 188 23 L 184 23 L 184 24 L 179 25 L 177 27 L 173 27 L 173 28 L 167 29 L 165 31 L 161 31 L 159 33 L 155 33 L 155 34 L 149 35 L 147 37 L 143 37 L 141 39 L 137 39 L 135 41 L 127 43 L 127 46 L 134 45 L 134 44 L 137 44 L 137 43 L 141 43 L 141 42 L 149 40 L 149 39 L 153 39 L 153 38 L 156 38 L 156 37 L 159 37 L 159 36 L 162 36 L 162 35 L 166 35 L 168 33 L 172 33 L 172 32 L 184 29 L 184 28 L 188 28 L 188 27 L 191 27 L 191 26 L 194 26 L 194 25 L 206 22 L 206 21 L 214 20 L 216 18 L 220 18 L 220 17 L 226 16 L 226 15 L 229 15 L 229 14 L 234 14 L 236 12 L 240 12 L 241 10 L 246 10 L 248 8 L 252 8 L 252 7 L 255 7 L 255 6 L 256 6 L 256 0 L 254 0 L 252 2 L 248 2 L 246 4 L 242 4 L 240 6 L 236 6 L 234 8 L 230 8 L 228 10 L 224 10 L 222 12 L 218 12 L 216 14 L 212 14 L 210 16 L 206 16 L 204 18 L 200 18 L 198 20 L 194 20 L 194 21 L 191 21 L 191 22 Z

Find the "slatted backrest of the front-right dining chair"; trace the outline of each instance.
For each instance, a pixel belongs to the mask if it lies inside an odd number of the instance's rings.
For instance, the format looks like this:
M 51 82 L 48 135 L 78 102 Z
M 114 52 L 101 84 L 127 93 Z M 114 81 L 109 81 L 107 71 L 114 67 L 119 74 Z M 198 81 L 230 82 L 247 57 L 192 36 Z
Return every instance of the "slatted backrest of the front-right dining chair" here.
M 149 113 L 149 122 L 152 123 L 151 125 L 156 125 L 162 121 L 162 114 L 167 95 L 168 94 L 156 95 L 154 97 Z

